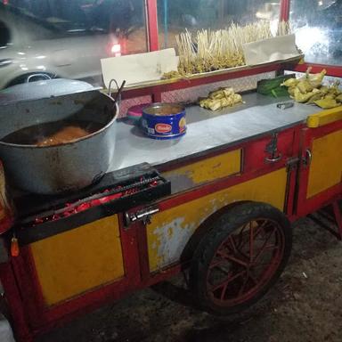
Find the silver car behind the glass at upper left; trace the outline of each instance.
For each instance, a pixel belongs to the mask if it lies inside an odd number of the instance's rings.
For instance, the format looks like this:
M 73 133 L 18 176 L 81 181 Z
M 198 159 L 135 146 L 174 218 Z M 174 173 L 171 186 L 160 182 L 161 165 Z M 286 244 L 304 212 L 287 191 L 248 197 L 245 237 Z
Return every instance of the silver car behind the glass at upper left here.
M 47 77 L 101 84 L 100 60 L 125 53 L 121 43 L 129 25 L 122 11 L 109 11 L 116 2 L 9 0 L 0 4 L 0 89 Z

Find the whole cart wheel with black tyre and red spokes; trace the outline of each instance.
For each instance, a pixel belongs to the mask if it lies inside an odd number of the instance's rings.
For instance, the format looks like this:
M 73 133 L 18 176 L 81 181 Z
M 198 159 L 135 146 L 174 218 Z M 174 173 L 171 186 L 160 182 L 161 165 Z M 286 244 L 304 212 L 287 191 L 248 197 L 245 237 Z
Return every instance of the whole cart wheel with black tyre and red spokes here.
M 220 216 L 199 242 L 190 285 L 213 314 L 236 314 L 256 303 L 281 275 L 292 244 L 289 220 L 265 203 L 246 202 Z

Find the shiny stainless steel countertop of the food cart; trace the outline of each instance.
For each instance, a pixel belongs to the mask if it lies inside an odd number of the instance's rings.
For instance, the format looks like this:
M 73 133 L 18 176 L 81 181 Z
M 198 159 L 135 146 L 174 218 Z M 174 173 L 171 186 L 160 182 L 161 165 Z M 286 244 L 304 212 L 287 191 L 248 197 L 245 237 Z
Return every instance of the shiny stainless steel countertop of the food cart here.
M 220 111 L 203 110 L 199 106 L 186 109 L 187 133 L 174 140 L 154 140 L 144 136 L 138 127 L 118 122 L 116 152 L 109 171 L 130 167 L 142 162 L 153 166 L 187 159 L 257 136 L 281 131 L 304 122 L 320 108 L 295 103 L 294 107 L 279 110 L 276 104 L 289 99 L 252 93 L 243 94 L 244 104 Z

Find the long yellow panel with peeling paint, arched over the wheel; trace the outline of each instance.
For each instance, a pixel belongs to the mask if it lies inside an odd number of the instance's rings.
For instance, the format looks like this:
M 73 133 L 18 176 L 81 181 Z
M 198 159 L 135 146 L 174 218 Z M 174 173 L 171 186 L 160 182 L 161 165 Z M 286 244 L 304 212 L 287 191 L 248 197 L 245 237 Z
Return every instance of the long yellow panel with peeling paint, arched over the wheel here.
M 282 168 L 153 216 L 151 224 L 147 225 L 151 272 L 177 262 L 199 224 L 232 202 L 261 201 L 282 211 L 286 182 L 287 172 Z

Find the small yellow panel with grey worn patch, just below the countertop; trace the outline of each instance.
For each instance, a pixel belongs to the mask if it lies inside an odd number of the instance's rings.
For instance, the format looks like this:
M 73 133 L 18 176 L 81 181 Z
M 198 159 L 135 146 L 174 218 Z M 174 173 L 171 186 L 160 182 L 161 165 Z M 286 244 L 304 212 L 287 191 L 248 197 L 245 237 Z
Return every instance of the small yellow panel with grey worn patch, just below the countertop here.
M 200 160 L 185 167 L 163 173 L 165 177 L 171 175 L 185 175 L 196 185 L 210 182 L 228 175 L 240 173 L 241 169 L 241 150 L 229 151 L 218 156 Z

